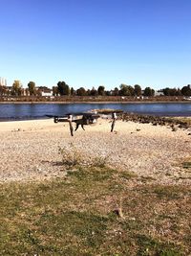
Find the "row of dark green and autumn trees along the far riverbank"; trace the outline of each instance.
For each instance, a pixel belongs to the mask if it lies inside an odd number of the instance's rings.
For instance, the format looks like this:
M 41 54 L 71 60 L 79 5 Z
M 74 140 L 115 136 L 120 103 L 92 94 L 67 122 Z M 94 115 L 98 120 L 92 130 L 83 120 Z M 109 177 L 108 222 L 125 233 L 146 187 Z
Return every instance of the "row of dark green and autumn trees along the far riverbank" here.
M 47 87 L 36 87 L 34 81 L 30 81 L 28 83 L 28 87 L 24 89 L 20 81 L 14 81 L 12 83 L 11 88 L 4 85 L 0 85 L 0 95 L 12 95 L 12 96 L 41 96 L 41 93 Z M 47 88 L 50 90 L 49 88 Z M 25 91 L 25 93 L 24 93 Z M 191 85 L 185 85 L 181 89 L 180 88 L 163 88 L 159 90 L 160 94 L 164 96 L 191 96 Z M 141 86 L 138 84 L 127 85 L 121 83 L 119 88 L 115 87 L 113 90 L 106 90 L 105 86 L 100 85 L 96 89 L 93 87 L 92 89 L 85 89 L 84 87 L 79 87 L 78 89 L 74 89 L 74 87 L 70 87 L 65 81 L 58 81 L 56 86 L 53 86 L 53 96 L 130 96 L 130 97 L 153 97 L 155 96 L 155 90 L 151 87 L 146 87 L 142 90 Z

